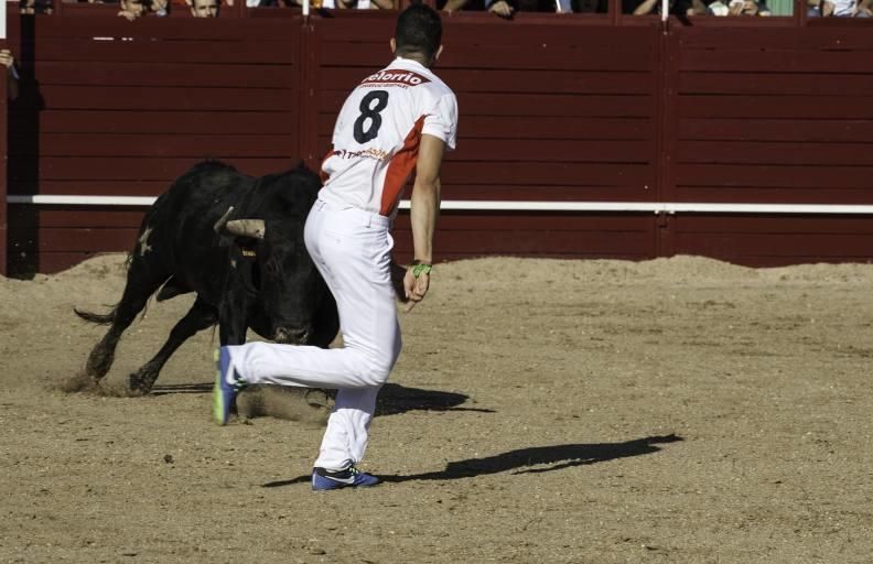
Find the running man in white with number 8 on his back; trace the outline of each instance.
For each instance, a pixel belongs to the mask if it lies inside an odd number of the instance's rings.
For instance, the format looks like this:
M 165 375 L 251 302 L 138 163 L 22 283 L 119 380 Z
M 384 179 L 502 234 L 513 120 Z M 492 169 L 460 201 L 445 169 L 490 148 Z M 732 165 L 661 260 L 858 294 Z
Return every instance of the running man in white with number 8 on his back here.
M 454 149 L 457 101 L 431 67 L 442 52 L 439 13 L 412 4 L 397 20 L 397 58 L 365 78 L 336 120 L 322 163 L 324 187 L 304 230 L 306 248 L 336 299 L 342 348 L 267 343 L 222 347 L 213 414 L 227 423 L 246 384 L 336 388 L 312 473 L 312 489 L 374 486 L 359 471 L 376 395 L 400 354 L 389 234 L 412 170 L 410 219 L 416 260 L 403 274 L 407 311 L 428 293 L 443 152 Z M 267 226 L 269 229 L 269 226 Z

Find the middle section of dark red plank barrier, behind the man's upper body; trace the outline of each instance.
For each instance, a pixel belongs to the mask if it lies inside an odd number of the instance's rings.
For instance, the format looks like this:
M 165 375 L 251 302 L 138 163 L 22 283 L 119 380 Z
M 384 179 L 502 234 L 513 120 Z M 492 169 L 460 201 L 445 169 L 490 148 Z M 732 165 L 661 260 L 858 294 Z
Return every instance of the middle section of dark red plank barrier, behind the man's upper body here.
M 328 148 L 345 96 L 391 58 L 394 20 L 317 22 L 317 144 Z M 511 40 L 508 37 L 511 33 Z M 436 72 L 456 93 L 459 147 L 443 167 L 443 199 L 657 199 L 658 32 L 446 18 Z M 483 254 L 655 256 L 653 216 L 443 213 L 442 258 Z M 406 216 L 398 254 L 410 245 Z

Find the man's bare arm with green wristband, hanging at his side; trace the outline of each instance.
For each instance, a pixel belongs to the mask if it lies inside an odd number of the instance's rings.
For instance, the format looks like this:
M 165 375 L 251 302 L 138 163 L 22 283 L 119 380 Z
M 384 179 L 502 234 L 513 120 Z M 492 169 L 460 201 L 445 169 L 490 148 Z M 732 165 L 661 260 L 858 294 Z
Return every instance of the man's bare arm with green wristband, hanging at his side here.
M 412 223 L 414 258 L 422 264 L 433 262 L 433 231 L 440 215 L 440 167 L 444 151 L 445 142 L 442 139 L 427 133 L 421 135 L 409 218 Z M 407 312 L 424 299 L 430 286 L 429 272 L 422 271 L 416 276 L 412 270 L 407 270 L 403 278 L 403 289 L 409 300 Z

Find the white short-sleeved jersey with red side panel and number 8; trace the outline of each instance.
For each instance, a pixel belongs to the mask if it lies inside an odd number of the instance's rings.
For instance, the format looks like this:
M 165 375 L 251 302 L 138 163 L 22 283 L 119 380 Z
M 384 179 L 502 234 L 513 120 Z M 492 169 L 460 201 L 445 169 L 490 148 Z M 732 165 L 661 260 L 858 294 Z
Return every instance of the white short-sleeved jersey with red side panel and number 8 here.
M 457 100 L 425 66 L 398 57 L 343 105 L 322 163 L 321 197 L 392 217 L 425 133 L 454 149 Z

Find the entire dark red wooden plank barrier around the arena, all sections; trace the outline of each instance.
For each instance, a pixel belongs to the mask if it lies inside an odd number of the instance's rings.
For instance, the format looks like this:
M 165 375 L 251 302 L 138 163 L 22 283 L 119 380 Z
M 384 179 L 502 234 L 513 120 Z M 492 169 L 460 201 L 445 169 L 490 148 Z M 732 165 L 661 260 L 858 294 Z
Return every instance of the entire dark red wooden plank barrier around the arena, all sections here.
M 618 2 L 612 2 L 613 9 Z M 801 3 L 798 2 L 798 7 Z M 873 204 L 873 33 L 804 18 L 444 18 L 456 91 L 444 199 Z M 225 10 L 127 22 L 111 7 L 10 17 L 30 96 L 10 113 L 10 194 L 157 195 L 204 158 L 317 166 L 348 90 L 390 59 L 395 14 Z M 1 123 L 1 122 L 0 122 Z M 10 206 L 9 261 L 54 271 L 127 250 L 142 208 Z M 408 254 L 408 220 L 396 238 Z M 747 264 L 873 259 L 863 218 L 446 212 L 441 258 Z M 4 248 L 6 249 L 6 248 Z

